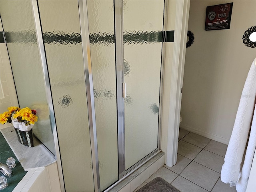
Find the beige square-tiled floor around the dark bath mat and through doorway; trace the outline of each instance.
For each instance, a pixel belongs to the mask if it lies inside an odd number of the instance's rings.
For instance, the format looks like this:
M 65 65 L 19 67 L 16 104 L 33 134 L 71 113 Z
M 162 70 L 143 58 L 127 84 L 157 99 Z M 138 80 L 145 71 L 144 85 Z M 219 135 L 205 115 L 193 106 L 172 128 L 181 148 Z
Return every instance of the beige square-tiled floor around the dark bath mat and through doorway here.
M 177 164 L 162 166 L 136 190 L 161 177 L 180 192 L 236 192 L 220 180 L 226 149 L 225 144 L 180 129 Z

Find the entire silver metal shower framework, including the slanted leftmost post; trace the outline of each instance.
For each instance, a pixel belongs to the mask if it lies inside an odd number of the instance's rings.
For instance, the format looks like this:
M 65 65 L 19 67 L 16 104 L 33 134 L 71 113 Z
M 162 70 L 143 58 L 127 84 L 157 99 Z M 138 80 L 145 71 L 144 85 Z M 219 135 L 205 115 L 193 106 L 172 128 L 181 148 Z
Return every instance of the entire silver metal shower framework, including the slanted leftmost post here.
M 162 42 L 162 60 L 161 60 L 161 76 L 160 76 L 160 100 L 159 100 L 159 117 L 158 117 L 158 146 L 157 149 L 148 154 L 142 160 L 137 162 L 134 166 L 125 170 L 125 135 L 124 135 L 124 98 L 122 97 L 122 83 L 124 83 L 124 43 L 123 43 L 123 4 L 122 0 L 114 0 L 114 24 L 115 24 L 115 49 L 116 49 L 116 89 L 117 89 L 117 119 L 118 119 L 118 171 L 119 180 L 105 191 L 110 190 L 116 184 L 124 180 L 127 176 L 135 171 L 134 168 L 139 168 L 147 160 L 154 157 L 160 152 L 161 144 L 161 110 L 162 110 L 162 81 L 163 81 L 163 68 L 164 68 L 164 41 Z M 163 31 L 166 25 L 166 3 L 164 0 L 164 17 L 163 17 Z M 94 191 L 100 192 L 100 174 L 99 174 L 99 160 L 98 160 L 98 145 L 96 135 L 96 115 L 94 108 L 94 94 L 93 94 L 93 79 L 92 79 L 92 64 L 90 56 L 90 39 L 89 39 L 89 27 L 88 27 L 88 14 L 87 14 L 87 0 L 78 0 L 80 26 L 81 26 L 81 38 L 84 57 L 84 74 L 86 78 L 86 94 L 88 99 L 88 116 L 89 116 L 89 129 L 90 129 L 90 142 L 92 151 L 92 169 L 94 177 Z M 50 110 L 50 120 L 52 126 L 52 132 L 54 135 L 54 143 L 56 149 L 56 158 L 58 160 L 58 172 L 60 175 L 61 190 L 64 191 L 64 178 L 62 172 L 62 165 L 60 159 L 60 151 L 58 145 L 58 136 L 56 130 L 56 122 L 54 116 L 54 108 L 52 103 L 50 81 L 48 76 L 48 68 L 46 62 L 46 54 L 44 50 L 44 42 L 42 38 L 42 28 L 40 22 L 40 15 L 38 11 L 37 0 L 32 0 L 32 8 L 34 11 L 36 35 L 38 39 L 38 46 L 40 51 L 40 57 L 42 60 L 42 67 L 44 72 L 44 80 L 46 85 L 46 95 L 48 98 L 48 105 Z M 164 38 L 164 36 L 163 36 Z

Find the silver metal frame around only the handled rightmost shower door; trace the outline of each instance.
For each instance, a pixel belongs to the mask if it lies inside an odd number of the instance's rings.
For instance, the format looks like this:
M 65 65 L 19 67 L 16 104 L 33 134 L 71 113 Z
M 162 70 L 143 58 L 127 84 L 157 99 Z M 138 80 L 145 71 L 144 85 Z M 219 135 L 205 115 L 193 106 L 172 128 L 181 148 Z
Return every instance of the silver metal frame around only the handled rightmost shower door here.
M 117 84 L 117 104 L 118 104 L 118 161 L 119 179 L 129 176 L 135 168 L 139 168 L 147 160 L 158 154 L 161 146 L 161 118 L 162 118 L 162 82 L 164 69 L 164 30 L 166 28 L 166 7 L 167 1 L 164 0 L 163 14 L 163 39 L 162 39 L 162 58 L 160 74 L 160 96 L 159 96 L 159 116 L 158 116 L 158 144 L 156 150 L 142 158 L 139 162 L 126 170 L 125 168 L 125 133 L 124 133 L 124 98 L 122 95 L 124 83 L 124 39 L 123 39 L 123 0 L 114 0 L 114 25 L 115 25 L 115 48 L 116 48 L 116 84 Z

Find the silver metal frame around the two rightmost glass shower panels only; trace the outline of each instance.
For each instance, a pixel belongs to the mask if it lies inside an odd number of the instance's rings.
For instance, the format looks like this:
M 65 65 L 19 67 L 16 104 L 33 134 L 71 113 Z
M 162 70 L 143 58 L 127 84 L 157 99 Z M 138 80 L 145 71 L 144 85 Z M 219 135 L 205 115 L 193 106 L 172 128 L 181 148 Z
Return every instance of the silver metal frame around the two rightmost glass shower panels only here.
M 89 128 L 92 150 L 92 168 L 94 176 L 94 191 L 100 192 L 100 174 L 98 160 L 98 145 L 96 136 L 96 115 L 94 108 L 93 80 L 92 80 L 92 63 L 90 55 L 90 39 L 88 26 L 87 0 L 78 0 L 82 48 L 84 56 L 84 70 L 86 77 L 86 94 L 88 98 L 88 115 Z M 166 25 L 166 0 L 164 0 L 163 31 Z M 116 184 L 128 177 L 135 168 L 139 168 L 147 160 L 154 157 L 160 152 L 161 145 L 161 110 L 162 110 L 162 79 L 164 63 L 164 35 L 162 41 L 162 58 L 161 58 L 161 75 L 160 75 L 160 100 L 158 116 L 158 145 L 156 150 L 148 154 L 135 165 L 125 170 L 125 133 L 124 133 L 124 98 L 122 96 L 124 83 L 124 40 L 123 40 L 123 1 L 114 0 L 114 29 L 115 29 L 115 52 L 116 52 L 116 90 L 117 90 L 117 124 L 118 124 L 118 182 L 107 188 L 105 191 L 112 189 Z

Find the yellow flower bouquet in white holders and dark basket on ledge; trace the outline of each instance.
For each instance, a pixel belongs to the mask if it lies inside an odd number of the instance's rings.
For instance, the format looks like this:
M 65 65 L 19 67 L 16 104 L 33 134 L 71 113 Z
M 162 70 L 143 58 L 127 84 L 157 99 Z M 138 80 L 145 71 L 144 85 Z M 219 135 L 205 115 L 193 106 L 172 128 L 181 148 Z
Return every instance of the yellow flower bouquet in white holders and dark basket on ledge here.
M 29 147 L 34 146 L 32 127 L 37 119 L 36 110 L 31 110 L 28 107 L 22 109 L 15 106 L 9 107 L 8 111 L 0 114 L 0 123 L 12 123 L 18 136 L 18 141 Z

